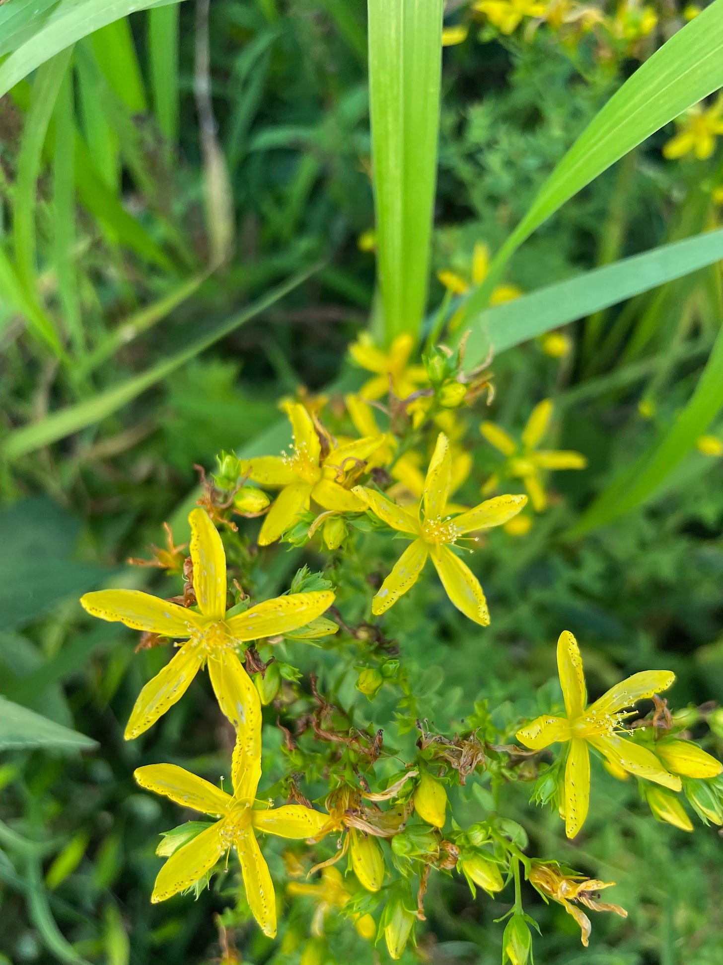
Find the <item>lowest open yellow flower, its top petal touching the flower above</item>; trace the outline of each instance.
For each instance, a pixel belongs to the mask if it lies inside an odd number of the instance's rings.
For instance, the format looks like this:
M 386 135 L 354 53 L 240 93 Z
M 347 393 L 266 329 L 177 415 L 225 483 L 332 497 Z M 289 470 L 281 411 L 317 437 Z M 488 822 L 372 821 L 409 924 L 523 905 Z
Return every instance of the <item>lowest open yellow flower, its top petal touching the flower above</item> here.
M 254 832 L 280 838 L 318 838 L 329 815 L 300 804 L 255 809 L 261 777 L 261 712 L 256 710 L 239 728 L 231 766 L 233 796 L 175 764 L 148 764 L 134 777 L 140 786 L 164 794 L 182 808 L 218 816 L 214 824 L 179 847 L 155 879 L 150 900 L 165 901 L 186 891 L 235 847 L 241 863 L 246 897 L 264 934 L 276 935 L 276 896 L 268 866 Z

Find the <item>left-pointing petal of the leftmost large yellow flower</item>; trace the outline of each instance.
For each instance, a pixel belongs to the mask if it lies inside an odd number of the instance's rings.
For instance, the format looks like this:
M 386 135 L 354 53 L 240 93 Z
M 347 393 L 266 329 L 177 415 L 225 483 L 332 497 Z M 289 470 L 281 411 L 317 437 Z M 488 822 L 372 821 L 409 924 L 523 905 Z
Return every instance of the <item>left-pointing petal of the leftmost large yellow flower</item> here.
M 85 593 L 80 602 L 92 617 L 165 637 L 190 637 L 203 623 L 193 611 L 140 590 L 97 590 Z

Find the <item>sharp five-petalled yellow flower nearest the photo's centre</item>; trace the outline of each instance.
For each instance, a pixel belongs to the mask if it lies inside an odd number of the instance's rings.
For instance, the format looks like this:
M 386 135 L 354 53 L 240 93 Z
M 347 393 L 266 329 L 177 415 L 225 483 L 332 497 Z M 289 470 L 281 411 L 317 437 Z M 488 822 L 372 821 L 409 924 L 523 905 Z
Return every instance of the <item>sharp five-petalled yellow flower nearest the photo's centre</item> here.
M 442 517 L 451 478 L 449 440 L 440 432 L 424 481 L 424 492 L 415 513 L 402 509 L 373 489 L 355 487 L 354 492 L 379 519 L 393 530 L 414 539 L 374 597 L 372 613 L 385 613 L 403 593 L 407 593 L 415 585 L 427 557 L 431 556 L 442 586 L 457 609 L 482 626 L 490 622 L 487 601 L 479 581 L 451 547 L 466 533 L 506 523 L 522 510 L 527 500 L 525 496 L 497 496 L 454 518 Z

